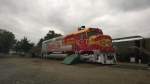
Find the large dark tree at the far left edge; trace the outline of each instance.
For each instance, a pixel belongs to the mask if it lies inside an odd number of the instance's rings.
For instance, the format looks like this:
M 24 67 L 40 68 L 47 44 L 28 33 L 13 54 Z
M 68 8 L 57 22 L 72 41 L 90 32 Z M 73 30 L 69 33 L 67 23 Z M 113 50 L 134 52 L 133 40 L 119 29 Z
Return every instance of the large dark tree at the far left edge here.
M 0 52 L 8 53 L 15 43 L 15 35 L 12 32 L 0 29 Z

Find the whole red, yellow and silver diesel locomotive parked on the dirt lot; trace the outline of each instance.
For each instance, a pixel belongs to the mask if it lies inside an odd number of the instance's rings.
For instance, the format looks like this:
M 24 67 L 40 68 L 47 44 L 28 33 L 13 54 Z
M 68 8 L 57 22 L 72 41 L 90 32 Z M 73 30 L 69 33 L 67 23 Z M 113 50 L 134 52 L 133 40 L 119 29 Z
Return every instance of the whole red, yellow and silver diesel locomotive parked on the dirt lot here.
M 46 40 L 42 43 L 42 56 L 79 56 L 79 60 L 101 64 L 115 64 L 116 54 L 109 35 L 104 35 L 99 28 L 85 28 L 81 26 L 78 31 L 65 36 Z M 67 54 L 64 55 L 58 55 Z

